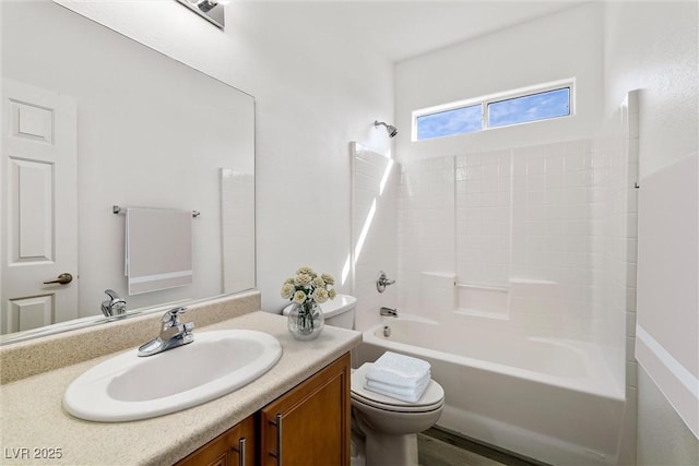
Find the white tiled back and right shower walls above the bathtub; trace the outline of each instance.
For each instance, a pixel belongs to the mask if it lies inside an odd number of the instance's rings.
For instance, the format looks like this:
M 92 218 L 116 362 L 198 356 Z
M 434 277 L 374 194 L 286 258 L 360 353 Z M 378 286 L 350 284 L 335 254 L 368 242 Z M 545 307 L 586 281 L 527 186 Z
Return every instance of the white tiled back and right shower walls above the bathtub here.
M 624 111 L 627 127 L 616 123 L 609 136 L 404 163 L 401 309 L 426 318 L 445 311 L 423 298 L 428 275 L 503 289 L 502 324 L 600 344 L 623 385 L 635 311 L 637 172 L 637 157 L 629 159 L 637 134 Z M 463 310 L 460 297 L 447 312 Z

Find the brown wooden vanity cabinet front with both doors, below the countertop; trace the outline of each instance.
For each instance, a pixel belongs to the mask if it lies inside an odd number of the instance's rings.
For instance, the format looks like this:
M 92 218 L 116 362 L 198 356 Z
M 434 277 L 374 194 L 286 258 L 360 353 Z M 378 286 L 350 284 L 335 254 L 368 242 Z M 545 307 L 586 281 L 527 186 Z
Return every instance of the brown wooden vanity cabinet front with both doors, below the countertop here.
M 348 466 L 350 354 L 336 359 L 176 466 Z

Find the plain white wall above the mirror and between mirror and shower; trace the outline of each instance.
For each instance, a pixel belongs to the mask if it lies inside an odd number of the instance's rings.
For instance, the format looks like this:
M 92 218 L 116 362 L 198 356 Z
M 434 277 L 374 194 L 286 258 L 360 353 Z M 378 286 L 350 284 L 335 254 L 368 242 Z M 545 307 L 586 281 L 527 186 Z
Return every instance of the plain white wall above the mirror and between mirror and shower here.
M 350 141 L 388 153 L 393 71 L 359 34 L 337 37 L 316 2 L 232 2 L 226 28 L 175 1 L 66 2 L 256 97 L 257 282 L 262 308 L 300 265 L 335 276 L 350 253 Z

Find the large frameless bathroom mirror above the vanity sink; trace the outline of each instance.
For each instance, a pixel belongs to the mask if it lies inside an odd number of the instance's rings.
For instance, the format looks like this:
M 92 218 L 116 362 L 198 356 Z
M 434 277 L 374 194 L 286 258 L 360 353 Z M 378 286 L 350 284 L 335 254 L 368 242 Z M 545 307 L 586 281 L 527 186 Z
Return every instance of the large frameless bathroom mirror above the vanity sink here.
M 106 289 L 132 312 L 254 288 L 254 98 L 54 2 L 1 8 L 0 343 L 104 322 Z M 72 178 L 32 159 L 66 141 Z M 128 295 L 115 205 L 200 213 L 191 285 Z M 72 282 L 44 284 L 64 273 Z

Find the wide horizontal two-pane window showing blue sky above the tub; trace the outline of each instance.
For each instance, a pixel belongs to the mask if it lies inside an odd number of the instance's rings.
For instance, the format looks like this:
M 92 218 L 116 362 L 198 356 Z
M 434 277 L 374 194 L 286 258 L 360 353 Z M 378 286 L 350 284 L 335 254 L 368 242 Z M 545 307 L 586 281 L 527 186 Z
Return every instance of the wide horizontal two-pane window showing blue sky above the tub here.
M 571 81 L 413 112 L 413 141 L 451 136 L 572 115 Z

